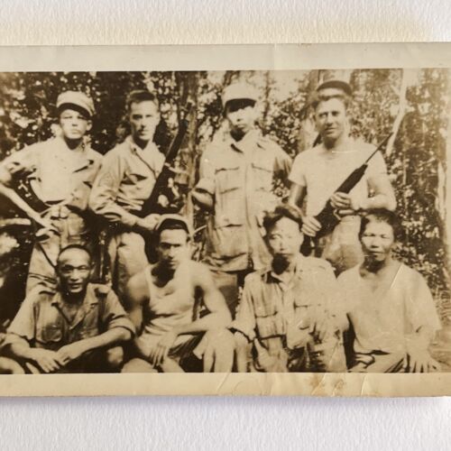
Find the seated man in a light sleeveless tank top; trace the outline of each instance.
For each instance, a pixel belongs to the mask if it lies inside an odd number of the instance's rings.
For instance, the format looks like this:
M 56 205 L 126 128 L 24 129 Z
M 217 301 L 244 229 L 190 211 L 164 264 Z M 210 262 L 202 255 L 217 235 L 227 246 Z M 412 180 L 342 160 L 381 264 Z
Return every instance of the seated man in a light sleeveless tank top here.
M 189 225 L 162 215 L 155 227 L 158 261 L 128 282 L 125 303 L 141 335 L 123 373 L 181 372 L 193 355 L 204 372 L 230 372 L 234 343 L 226 301 L 203 263 L 189 258 Z M 207 309 L 198 315 L 197 296 Z M 202 313 L 202 312 L 201 312 Z

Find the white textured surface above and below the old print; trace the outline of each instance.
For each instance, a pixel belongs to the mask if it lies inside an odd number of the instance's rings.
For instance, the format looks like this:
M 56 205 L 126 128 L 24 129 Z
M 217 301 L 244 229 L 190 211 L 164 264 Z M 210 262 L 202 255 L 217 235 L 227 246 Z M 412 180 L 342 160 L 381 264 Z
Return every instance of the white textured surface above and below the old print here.
M 1 44 L 450 41 L 451 2 L 3 0 Z M 9 449 L 451 449 L 451 400 L 0 400 Z

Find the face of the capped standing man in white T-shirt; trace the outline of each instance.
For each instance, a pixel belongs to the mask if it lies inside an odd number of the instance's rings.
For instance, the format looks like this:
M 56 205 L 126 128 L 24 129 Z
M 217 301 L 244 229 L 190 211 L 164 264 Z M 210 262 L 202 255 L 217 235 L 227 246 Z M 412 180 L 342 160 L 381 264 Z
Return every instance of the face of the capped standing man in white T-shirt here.
M 320 101 L 315 110 L 318 133 L 324 143 L 336 143 L 345 135 L 347 125 L 345 103 L 338 98 Z

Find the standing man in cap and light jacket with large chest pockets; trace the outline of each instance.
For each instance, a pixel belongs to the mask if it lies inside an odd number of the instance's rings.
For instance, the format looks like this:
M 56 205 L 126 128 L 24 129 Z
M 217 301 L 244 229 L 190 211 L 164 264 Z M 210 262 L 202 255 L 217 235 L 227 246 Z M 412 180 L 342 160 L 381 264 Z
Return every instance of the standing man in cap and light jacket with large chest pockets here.
M 211 211 L 207 224 L 207 263 L 235 315 L 244 276 L 264 267 L 271 256 L 264 243 L 262 215 L 276 203 L 274 177 L 286 180 L 289 155 L 255 126 L 257 92 L 241 82 L 222 95 L 228 131 L 202 154 L 192 196 Z

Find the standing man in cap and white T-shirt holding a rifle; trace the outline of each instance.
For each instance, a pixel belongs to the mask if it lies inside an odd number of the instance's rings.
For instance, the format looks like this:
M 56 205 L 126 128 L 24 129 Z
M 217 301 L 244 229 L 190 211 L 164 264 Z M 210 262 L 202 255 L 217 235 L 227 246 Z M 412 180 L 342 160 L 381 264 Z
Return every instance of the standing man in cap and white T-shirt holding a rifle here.
M 368 162 L 364 177 L 349 194 L 335 192 L 343 181 L 374 152 L 372 144 L 349 136 L 348 106 L 351 87 L 342 80 L 328 80 L 318 87 L 312 105 L 321 143 L 299 153 L 290 172 L 290 204 L 302 206 L 307 197 L 302 231 L 314 237 L 321 225 L 315 218 L 330 198 L 340 222 L 321 237 L 316 254 L 327 259 L 336 273 L 363 260 L 358 240 L 359 212 L 370 208 L 394 210 L 396 199 L 381 152 Z M 371 193 L 371 194 L 370 194 Z

